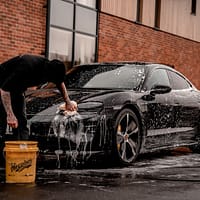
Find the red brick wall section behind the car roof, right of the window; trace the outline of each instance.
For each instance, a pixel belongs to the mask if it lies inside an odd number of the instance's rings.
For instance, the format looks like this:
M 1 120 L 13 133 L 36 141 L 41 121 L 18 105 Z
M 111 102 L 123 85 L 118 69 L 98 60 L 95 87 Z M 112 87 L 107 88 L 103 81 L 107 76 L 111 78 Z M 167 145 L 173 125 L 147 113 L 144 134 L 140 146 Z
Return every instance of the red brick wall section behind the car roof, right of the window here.
M 200 43 L 100 14 L 98 61 L 150 61 L 174 65 L 200 89 Z

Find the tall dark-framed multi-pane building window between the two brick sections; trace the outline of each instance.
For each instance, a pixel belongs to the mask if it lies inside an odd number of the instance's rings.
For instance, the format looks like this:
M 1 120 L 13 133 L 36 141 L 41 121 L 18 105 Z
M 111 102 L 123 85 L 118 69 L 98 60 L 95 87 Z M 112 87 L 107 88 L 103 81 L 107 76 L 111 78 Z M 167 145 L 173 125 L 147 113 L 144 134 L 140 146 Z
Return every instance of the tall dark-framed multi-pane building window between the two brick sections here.
M 96 0 L 49 0 L 47 56 L 67 69 L 96 61 Z

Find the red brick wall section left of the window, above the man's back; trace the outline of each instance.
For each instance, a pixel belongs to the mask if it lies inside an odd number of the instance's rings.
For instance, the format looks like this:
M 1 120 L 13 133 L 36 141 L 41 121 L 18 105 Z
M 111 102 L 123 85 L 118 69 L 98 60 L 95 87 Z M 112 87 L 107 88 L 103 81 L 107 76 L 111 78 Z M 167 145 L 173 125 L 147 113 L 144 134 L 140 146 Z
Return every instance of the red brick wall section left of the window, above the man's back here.
M 45 53 L 47 0 L 1 0 L 0 63 L 10 57 Z

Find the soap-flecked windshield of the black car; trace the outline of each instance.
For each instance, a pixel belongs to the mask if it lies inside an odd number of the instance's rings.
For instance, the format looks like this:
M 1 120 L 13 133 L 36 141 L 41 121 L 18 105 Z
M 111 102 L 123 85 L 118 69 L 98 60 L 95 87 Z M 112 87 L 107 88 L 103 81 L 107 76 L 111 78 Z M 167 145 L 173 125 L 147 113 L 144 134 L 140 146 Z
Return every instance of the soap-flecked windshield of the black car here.
M 144 67 L 136 64 L 79 66 L 67 75 L 65 83 L 77 89 L 136 89 L 144 73 Z

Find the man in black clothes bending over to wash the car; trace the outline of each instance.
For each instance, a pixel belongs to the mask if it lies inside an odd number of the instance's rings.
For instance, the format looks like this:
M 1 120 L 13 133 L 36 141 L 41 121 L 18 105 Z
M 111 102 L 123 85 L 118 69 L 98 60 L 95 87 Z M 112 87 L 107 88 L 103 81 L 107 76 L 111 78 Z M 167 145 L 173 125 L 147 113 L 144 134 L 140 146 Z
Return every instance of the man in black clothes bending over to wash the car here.
M 20 140 L 28 140 L 24 92 L 28 87 L 53 82 L 61 92 L 66 110 L 77 108 L 70 101 L 65 84 L 65 66 L 61 61 L 49 61 L 35 55 L 22 55 L 0 65 L 0 137 L 7 124 Z

